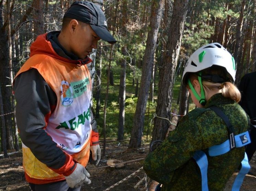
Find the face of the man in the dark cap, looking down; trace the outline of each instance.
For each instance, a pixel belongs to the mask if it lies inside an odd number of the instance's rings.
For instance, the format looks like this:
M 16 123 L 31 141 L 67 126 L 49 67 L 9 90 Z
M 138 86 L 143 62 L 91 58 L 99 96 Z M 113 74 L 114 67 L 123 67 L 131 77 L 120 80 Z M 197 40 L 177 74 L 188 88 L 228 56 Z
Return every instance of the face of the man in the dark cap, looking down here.
M 84 59 L 92 52 L 92 49 L 97 48 L 98 40 L 100 38 L 89 24 L 78 22 L 76 26 L 72 27 L 70 51 L 80 59 Z

